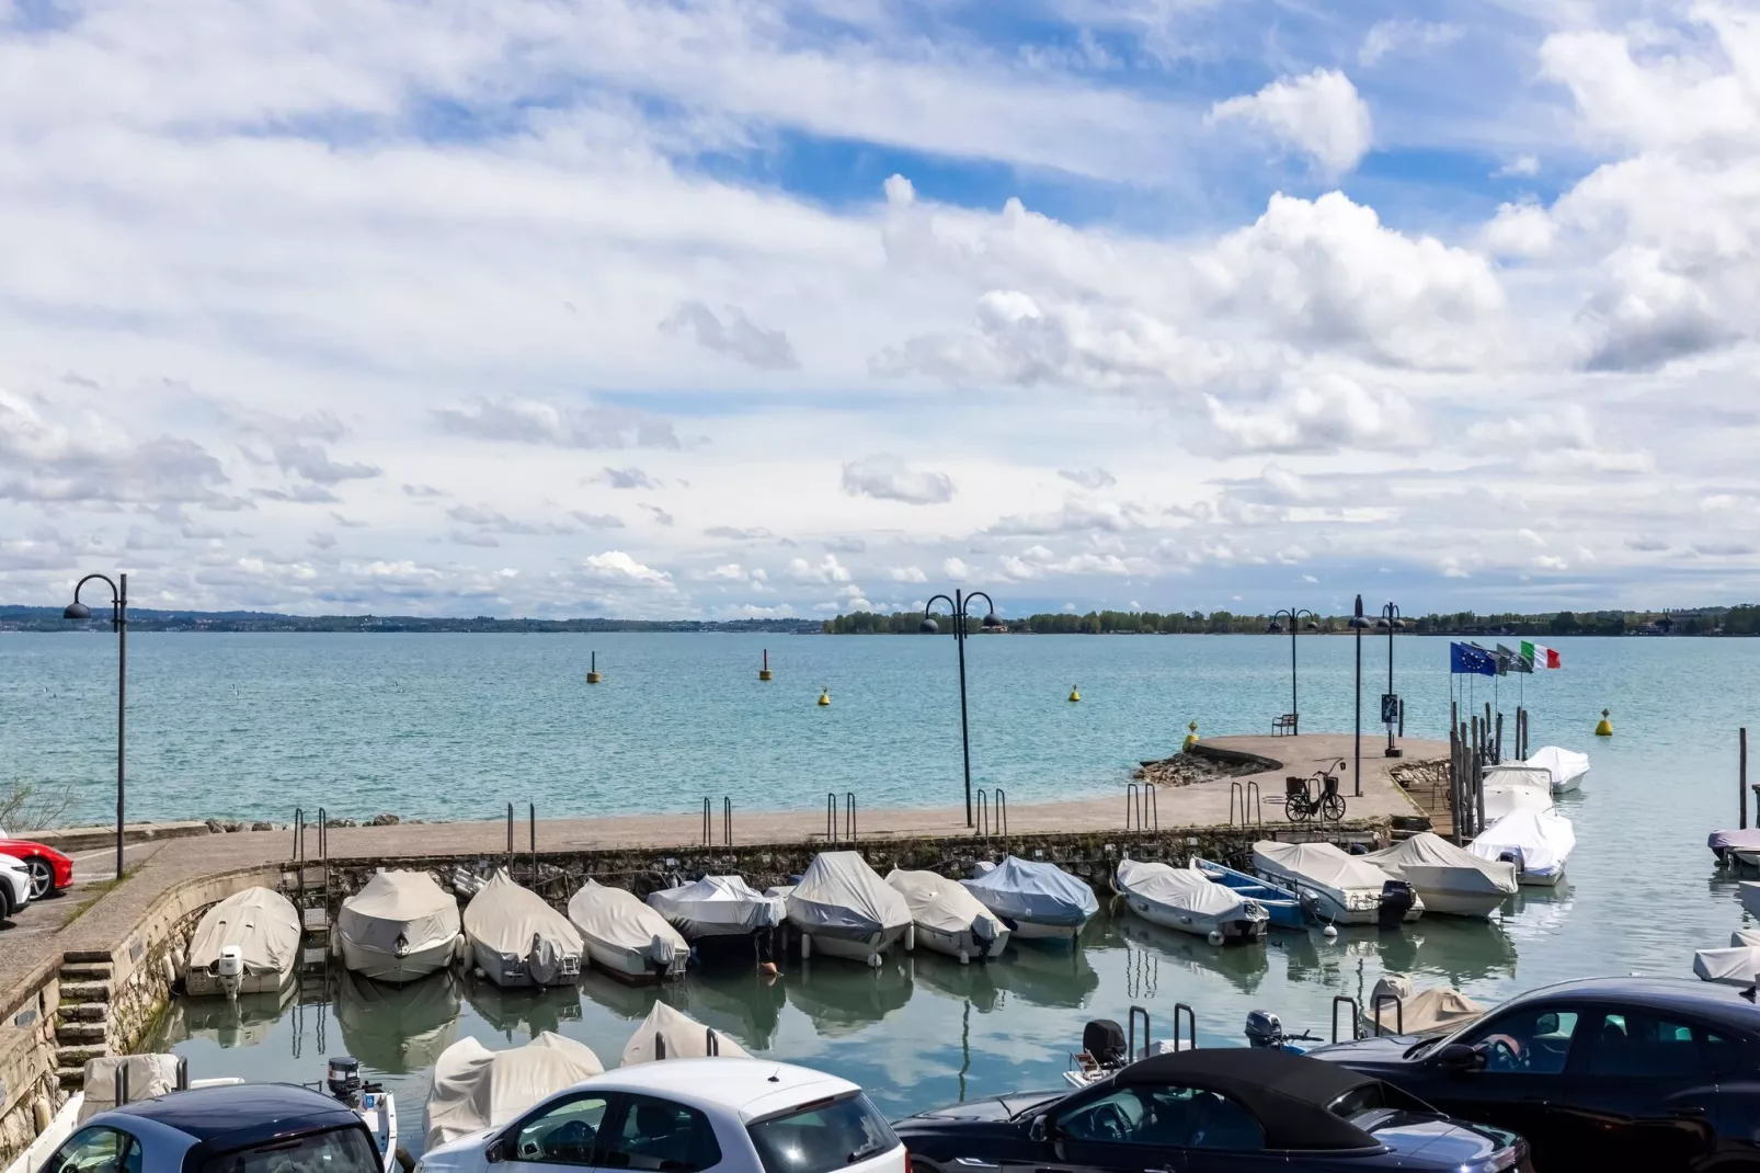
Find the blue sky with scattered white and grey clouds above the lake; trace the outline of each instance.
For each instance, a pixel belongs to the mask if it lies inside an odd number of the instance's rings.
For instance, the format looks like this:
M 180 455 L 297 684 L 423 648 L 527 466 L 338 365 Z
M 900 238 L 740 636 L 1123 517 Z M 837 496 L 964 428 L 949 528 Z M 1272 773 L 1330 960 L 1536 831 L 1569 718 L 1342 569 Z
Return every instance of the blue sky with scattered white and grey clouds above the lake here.
M 1756 250 L 1753 4 L 0 0 L 0 602 L 1748 601 Z

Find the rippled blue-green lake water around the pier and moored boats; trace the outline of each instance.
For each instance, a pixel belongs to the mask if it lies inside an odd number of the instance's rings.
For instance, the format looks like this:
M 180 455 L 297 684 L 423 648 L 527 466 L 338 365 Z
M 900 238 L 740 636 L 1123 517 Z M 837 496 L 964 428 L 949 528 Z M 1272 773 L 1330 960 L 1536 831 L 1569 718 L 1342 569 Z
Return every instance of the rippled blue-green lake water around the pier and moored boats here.
M 400 1092 L 405 1136 L 419 1140 L 444 1043 L 472 1034 L 505 1046 L 560 1029 L 616 1062 L 653 997 L 757 1053 L 847 1074 L 903 1113 L 1054 1087 L 1082 1023 L 1123 1022 L 1133 1002 L 1158 1036 L 1188 1002 L 1202 1041 L 1237 1044 L 1255 1006 L 1324 1034 L 1332 995 L 1360 997 L 1383 972 L 1485 1002 L 1589 974 L 1690 976 L 1693 949 L 1749 925 L 1704 842 L 1734 823 L 1735 729 L 1760 717 L 1760 643 L 1558 643 L 1565 671 L 1524 690 L 1536 747 L 1591 754 L 1582 793 L 1561 800 L 1579 847 L 1566 884 L 1524 889 L 1492 923 L 1426 918 L 1396 933 L 1274 933 L 1264 948 L 1213 949 L 1121 914 L 1098 918 L 1077 953 L 1023 944 L 991 967 L 915 956 L 878 974 L 796 962 L 778 985 L 693 974 L 664 995 L 604 978 L 547 993 L 444 983 L 385 993 L 334 976 L 317 1002 L 257 1018 L 180 1007 L 162 1043 L 197 1074 L 292 1080 L 352 1050 Z M 778 671 L 769 685 L 757 682 L 764 646 Z M 590 648 L 607 675 L 595 689 L 581 683 Z M 1287 638 L 984 638 L 968 652 L 975 775 L 1012 801 L 1116 787 L 1139 757 L 1177 747 L 1186 720 L 1264 729 L 1288 708 Z M 1352 652 L 1346 638 L 1302 638 L 1306 727 L 1350 727 Z M 1364 652 L 1373 712 L 1385 639 Z M 285 817 L 294 801 L 322 801 L 495 817 L 528 794 L 546 814 L 579 814 L 690 810 L 704 793 L 739 807 L 811 803 L 827 789 L 855 789 L 864 805 L 959 793 L 945 639 L 141 636 L 132 653 L 141 814 Z M 1441 734 L 1447 641 L 1399 639 L 1396 653 L 1408 731 Z M 102 812 L 113 655 L 102 638 L 0 639 L 0 770 L 84 780 Z M 1072 683 L 1081 705 L 1063 699 Z M 820 687 L 829 710 L 813 705 Z M 1503 701 L 1514 708 L 1508 689 Z M 1610 740 L 1591 736 L 1603 706 Z

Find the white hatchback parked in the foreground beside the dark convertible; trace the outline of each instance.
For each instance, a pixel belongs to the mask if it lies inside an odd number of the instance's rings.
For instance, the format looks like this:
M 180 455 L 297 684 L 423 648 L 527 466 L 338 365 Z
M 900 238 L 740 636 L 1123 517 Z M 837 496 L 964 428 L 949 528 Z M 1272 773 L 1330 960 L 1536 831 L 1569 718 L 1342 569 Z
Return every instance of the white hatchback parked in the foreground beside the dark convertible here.
M 862 1088 L 760 1059 L 665 1059 L 556 1092 L 512 1122 L 429 1148 L 415 1173 L 908 1173 Z

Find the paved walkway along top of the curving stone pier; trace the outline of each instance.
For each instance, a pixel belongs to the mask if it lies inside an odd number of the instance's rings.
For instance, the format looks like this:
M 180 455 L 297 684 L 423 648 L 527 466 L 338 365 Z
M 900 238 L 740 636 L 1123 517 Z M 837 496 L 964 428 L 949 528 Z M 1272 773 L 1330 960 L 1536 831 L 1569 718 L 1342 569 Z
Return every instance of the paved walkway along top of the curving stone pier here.
M 1309 775 L 1343 757 L 1352 757 L 1352 734 L 1302 734 L 1292 738 L 1236 736 L 1211 738 L 1204 745 L 1255 754 L 1281 763 L 1276 770 L 1251 775 L 1264 796 L 1265 824 L 1283 824 L 1283 777 Z M 1348 773 L 1339 777 L 1346 794 L 1348 819 L 1415 814 L 1412 800 L 1387 777 L 1397 759 L 1378 756 L 1378 741 L 1364 741 L 1362 796 Z M 1406 761 L 1445 757 L 1445 741 L 1403 741 Z M 1369 757 L 1369 752 L 1376 752 Z M 1239 778 L 1244 782 L 1246 778 Z M 1216 826 L 1228 823 L 1228 778 L 1214 778 L 1183 787 L 1163 787 L 1156 794 L 1162 828 Z M 840 814 L 841 823 L 841 814 Z M 1125 794 L 1114 793 L 1061 803 L 1019 805 L 1008 810 L 1010 833 L 1084 833 L 1125 826 Z M 734 844 L 810 842 L 825 835 L 824 810 L 741 812 L 734 810 Z M 922 807 L 857 810 L 857 835 L 875 838 L 935 838 L 968 835 L 963 807 Z M 528 828 L 516 823 L 514 847 L 528 849 Z M 720 842 L 720 812 L 715 812 L 715 838 Z M 605 819 L 544 819 L 537 826 L 537 847 L 547 851 L 595 851 L 620 847 L 692 847 L 702 842 L 700 812 L 679 815 L 616 815 Z M 109 948 L 132 930 L 167 889 L 201 875 L 276 865 L 290 858 L 289 831 L 238 831 L 201 838 L 141 844 L 128 849 L 128 879 L 104 893 L 77 919 L 67 923 L 83 904 L 70 891 L 56 900 L 32 905 L 16 928 L 0 930 L 0 1006 L 14 986 L 37 972 L 48 956 L 72 949 Z M 315 854 L 317 835 L 308 831 L 308 852 Z M 426 823 L 400 826 L 333 828 L 333 859 L 394 859 L 421 856 L 500 854 L 507 851 L 505 823 Z M 109 879 L 113 854 L 99 851 L 81 859 L 79 884 Z M 136 870 L 137 868 L 137 870 Z M 90 870 L 90 875 L 86 872 Z

